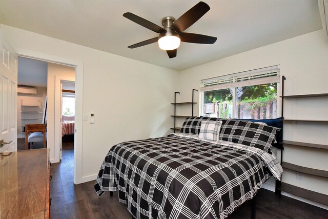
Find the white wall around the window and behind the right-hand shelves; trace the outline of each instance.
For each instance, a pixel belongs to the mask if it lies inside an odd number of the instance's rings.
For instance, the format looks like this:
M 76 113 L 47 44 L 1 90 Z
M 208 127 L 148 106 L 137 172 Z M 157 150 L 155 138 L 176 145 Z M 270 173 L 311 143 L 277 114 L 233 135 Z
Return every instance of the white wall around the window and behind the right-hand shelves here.
M 319 30 L 181 71 L 178 73 L 180 101 L 188 101 L 191 89 L 199 88 L 201 79 L 273 65 L 280 65 L 280 75 L 286 76 L 285 95 L 328 93 L 328 36 Z M 305 102 L 286 103 L 284 116 L 328 120 L 327 98 Z M 199 105 L 195 109 L 198 115 Z M 283 132 L 285 140 L 324 145 L 328 142 L 327 133 L 328 125 L 322 123 L 284 124 Z M 286 148 L 284 151 L 284 161 L 322 170 L 328 170 L 327 157 L 328 150 Z M 328 194 L 328 181 L 321 177 L 303 175 L 303 181 L 297 181 L 295 172 L 285 171 L 283 181 Z

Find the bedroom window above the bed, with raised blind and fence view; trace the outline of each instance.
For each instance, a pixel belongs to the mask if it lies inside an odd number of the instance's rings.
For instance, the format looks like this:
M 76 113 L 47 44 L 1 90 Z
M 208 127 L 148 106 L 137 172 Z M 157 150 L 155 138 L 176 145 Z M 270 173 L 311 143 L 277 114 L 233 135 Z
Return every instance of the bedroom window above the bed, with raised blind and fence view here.
M 278 117 L 279 66 L 204 79 L 201 115 L 218 118 Z

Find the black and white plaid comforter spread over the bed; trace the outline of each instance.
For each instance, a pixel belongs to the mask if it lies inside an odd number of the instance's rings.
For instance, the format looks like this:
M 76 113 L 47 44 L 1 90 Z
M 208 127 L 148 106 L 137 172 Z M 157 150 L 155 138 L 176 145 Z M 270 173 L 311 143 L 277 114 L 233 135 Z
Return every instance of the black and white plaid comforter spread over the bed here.
M 118 190 L 136 218 L 224 218 L 281 172 L 262 150 L 172 134 L 113 146 L 94 188 Z

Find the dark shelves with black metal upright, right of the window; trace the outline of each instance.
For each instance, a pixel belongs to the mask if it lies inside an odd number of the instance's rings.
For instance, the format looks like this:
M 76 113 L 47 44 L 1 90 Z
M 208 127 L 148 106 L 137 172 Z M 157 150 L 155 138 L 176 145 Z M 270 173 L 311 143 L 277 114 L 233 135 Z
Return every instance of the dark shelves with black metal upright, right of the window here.
M 319 93 L 319 94 L 302 94 L 302 95 L 283 95 L 283 89 L 284 89 L 284 80 L 286 78 L 284 76 L 282 76 L 282 95 L 280 96 L 282 98 L 282 102 L 281 102 L 281 114 L 283 117 L 283 102 L 284 99 L 286 98 L 320 98 L 320 101 L 328 101 L 328 93 Z M 284 123 L 285 122 L 302 122 L 305 124 L 312 124 L 312 123 L 328 123 L 328 120 L 306 120 L 306 119 L 290 119 L 290 118 L 284 118 L 282 120 Z M 328 150 L 328 145 L 323 145 L 323 144 L 313 144 L 313 143 L 305 143 L 305 142 L 296 142 L 296 141 L 287 141 L 287 140 L 283 140 L 282 144 L 284 146 L 293 146 L 293 147 L 306 147 L 306 148 L 310 148 L 313 150 Z M 291 171 L 295 171 L 295 172 L 299 172 L 299 173 L 303 173 L 303 174 L 308 174 L 308 175 L 313 175 L 313 176 L 317 176 L 317 177 L 323 177 L 326 180 L 328 180 L 328 171 L 326 170 L 319 170 L 319 169 L 313 169 L 313 168 L 309 168 L 309 167 L 304 167 L 304 166 L 300 166 L 300 165 L 296 165 L 296 164 L 292 164 L 292 163 L 288 163 L 288 162 L 284 162 L 282 159 L 282 152 L 281 152 L 281 166 L 284 169 L 289 169 Z M 307 200 L 311 200 L 323 205 L 328 205 L 328 195 L 326 194 L 322 194 L 322 193 L 318 193 L 315 191 L 311 191 L 308 189 L 304 189 L 301 187 L 297 187 L 294 185 L 290 185 L 284 182 L 279 182 L 276 184 L 276 191 L 278 191 L 279 193 L 281 191 L 284 192 L 288 192 L 290 194 L 294 194 L 297 195 L 299 197 L 303 197 L 306 198 Z

